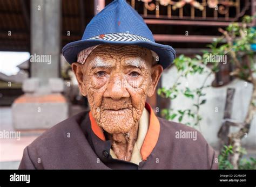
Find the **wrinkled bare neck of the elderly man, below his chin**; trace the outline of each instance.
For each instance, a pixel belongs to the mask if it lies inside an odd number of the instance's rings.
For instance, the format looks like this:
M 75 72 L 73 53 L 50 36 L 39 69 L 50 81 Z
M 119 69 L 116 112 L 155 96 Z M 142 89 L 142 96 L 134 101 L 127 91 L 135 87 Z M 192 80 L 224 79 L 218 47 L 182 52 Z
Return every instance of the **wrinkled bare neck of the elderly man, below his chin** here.
M 139 121 L 128 133 L 107 134 L 108 138 L 112 140 L 111 148 L 118 159 L 131 160 L 132 150 L 138 138 L 138 127 Z

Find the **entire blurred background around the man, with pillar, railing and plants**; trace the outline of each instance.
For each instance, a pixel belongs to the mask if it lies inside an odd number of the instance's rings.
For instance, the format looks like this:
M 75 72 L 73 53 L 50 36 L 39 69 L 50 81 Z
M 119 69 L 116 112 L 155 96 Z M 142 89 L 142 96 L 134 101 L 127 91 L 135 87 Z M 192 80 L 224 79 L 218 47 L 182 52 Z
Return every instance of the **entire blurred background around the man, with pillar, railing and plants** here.
M 61 49 L 80 40 L 111 2 L 0 0 L 0 169 L 17 169 L 23 149 L 38 135 L 88 109 Z M 256 1 L 127 2 L 156 42 L 176 49 L 177 60 L 147 100 L 156 114 L 199 130 L 222 155 L 223 169 L 255 169 Z

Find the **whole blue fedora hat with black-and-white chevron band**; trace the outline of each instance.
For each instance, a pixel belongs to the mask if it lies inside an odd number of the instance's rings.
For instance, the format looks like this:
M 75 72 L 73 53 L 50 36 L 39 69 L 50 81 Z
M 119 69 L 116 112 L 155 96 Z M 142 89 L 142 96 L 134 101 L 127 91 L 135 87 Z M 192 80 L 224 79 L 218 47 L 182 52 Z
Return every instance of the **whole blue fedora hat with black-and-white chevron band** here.
M 100 45 L 137 45 L 151 49 L 159 56 L 158 63 L 165 69 L 175 58 L 171 46 L 157 44 L 142 17 L 125 0 L 115 0 L 107 5 L 86 26 L 82 40 L 74 41 L 62 49 L 71 64 L 85 48 Z

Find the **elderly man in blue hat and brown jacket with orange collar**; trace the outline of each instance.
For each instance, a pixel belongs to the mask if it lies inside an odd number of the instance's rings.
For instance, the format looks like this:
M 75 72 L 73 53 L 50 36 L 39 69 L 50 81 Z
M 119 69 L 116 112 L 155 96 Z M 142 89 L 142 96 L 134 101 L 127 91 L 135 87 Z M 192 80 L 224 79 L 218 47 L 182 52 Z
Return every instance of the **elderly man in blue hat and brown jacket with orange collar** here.
M 199 132 L 156 117 L 146 103 L 175 51 L 154 42 L 124 0 L 98 13 L 63 55 L 90 111 L 39 136 L 24 149 L 20 169 L 217 169 Z

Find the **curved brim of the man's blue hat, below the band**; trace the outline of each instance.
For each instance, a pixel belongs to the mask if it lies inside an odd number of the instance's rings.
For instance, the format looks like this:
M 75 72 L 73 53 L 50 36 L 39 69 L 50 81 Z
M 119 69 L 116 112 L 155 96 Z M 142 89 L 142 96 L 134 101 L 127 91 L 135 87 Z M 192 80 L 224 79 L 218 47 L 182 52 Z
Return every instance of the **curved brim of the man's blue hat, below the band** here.
M 62 49 L 62 54 L 65 57 L 66 61 L 70 64 L 77 61 L 77 54 L 86 49 L 88 47 L 100 45 L 100 44 L 111 44 L 111 45 L 137 45 L 141 47 L 145 47 L 151 49 L 152 51 L 156 52 L 159 56 L 158 63 L 163 66 L 163 68 L 167 68 L 172 64 L 173 60 L 175 59 L 176 52 L 171 46 L 157 44 L 156 42 L 151 41 L 107 41 L 107 40 L 97 40 L 97 39 L 90 39 L 90 40 L 79 40 L 70 42 L 69 44 L 65 45 Z

